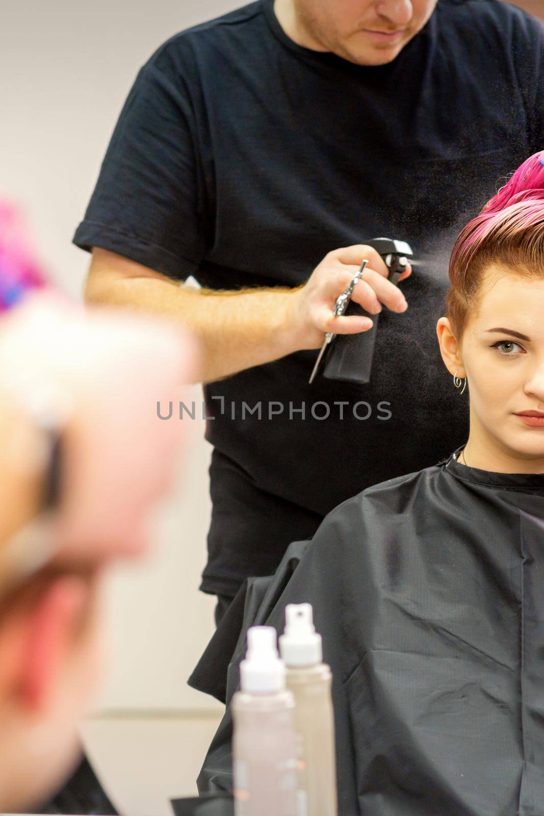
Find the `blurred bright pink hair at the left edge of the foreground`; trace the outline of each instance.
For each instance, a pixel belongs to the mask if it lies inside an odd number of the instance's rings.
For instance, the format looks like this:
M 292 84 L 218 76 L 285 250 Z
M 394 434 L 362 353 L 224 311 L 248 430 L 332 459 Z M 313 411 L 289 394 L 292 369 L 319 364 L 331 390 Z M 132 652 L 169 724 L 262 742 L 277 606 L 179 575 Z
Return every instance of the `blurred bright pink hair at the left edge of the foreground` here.
M 23 216 L 0 199 L 0 313 L 15 306 L 27 292 L 48 286 Z

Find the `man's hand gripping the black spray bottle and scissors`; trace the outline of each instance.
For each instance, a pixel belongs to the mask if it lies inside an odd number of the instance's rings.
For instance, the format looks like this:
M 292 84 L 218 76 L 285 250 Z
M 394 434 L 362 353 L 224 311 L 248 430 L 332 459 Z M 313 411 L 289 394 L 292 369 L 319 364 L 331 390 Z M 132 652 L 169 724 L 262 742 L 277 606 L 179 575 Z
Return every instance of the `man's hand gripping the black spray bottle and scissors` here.
M 400 289 L 387 280 L 387 266 L 378 252 L 365 244 L 334 250 L 316 266 L 306 285 L 292 295 L 290 321 L 297 348 L 319 348 L 327 331 L 353 335 L 372 328 L 369 317 L 334 317 L 338 295 L 359 272 L 364 258 L 369 259 L 369 264 L 353 290 L 352 300 L 371 314 L 381 312 L 382 304 L 393 312 L 408 308 Z M 408 264 L 399 280 L 411 273 Z

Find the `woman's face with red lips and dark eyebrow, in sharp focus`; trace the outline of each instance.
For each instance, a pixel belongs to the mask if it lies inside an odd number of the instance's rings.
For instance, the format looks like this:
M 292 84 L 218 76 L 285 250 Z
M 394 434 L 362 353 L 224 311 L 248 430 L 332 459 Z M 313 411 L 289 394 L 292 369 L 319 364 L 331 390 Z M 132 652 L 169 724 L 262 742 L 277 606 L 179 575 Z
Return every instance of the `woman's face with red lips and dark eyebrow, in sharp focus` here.
M 544 462 L 544 277 L 491 266 L 458 355 L 471 401 L 471 445 Z M 540 417 L 521 416 L 540 412 Z

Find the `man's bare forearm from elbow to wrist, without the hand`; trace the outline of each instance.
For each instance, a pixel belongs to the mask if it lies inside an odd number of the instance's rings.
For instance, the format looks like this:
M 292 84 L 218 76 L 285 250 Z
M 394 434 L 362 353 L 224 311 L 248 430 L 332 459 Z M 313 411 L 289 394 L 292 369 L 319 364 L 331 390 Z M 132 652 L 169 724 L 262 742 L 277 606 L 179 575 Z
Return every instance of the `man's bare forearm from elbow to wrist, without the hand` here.
M 104 276 L 86 288 L 87 303 L 142 309 L 179 320 L 201 344 L 202 382 L 222 379 L 301 348 L 293 330 L 296 290 L 190 292 L 155 277 Z

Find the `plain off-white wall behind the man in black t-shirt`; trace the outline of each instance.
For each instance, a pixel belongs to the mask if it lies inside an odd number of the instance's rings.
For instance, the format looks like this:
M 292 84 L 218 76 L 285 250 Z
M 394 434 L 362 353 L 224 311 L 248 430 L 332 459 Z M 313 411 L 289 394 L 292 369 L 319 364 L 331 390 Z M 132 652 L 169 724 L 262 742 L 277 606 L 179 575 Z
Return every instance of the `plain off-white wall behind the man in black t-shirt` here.
M 0 196 L 23 208 L 51 277 L 72 295 L 81 297 L 88 264 L 73 230 L 139 66 L 172 34 L 238 5 L 0 0 Z M 100 710 L 213 707 L 186 685 L 213 631 L 214 602 L 197 592 L 210 516 L 202 433 L 157 517 L 153 560 L 109 582 Z

